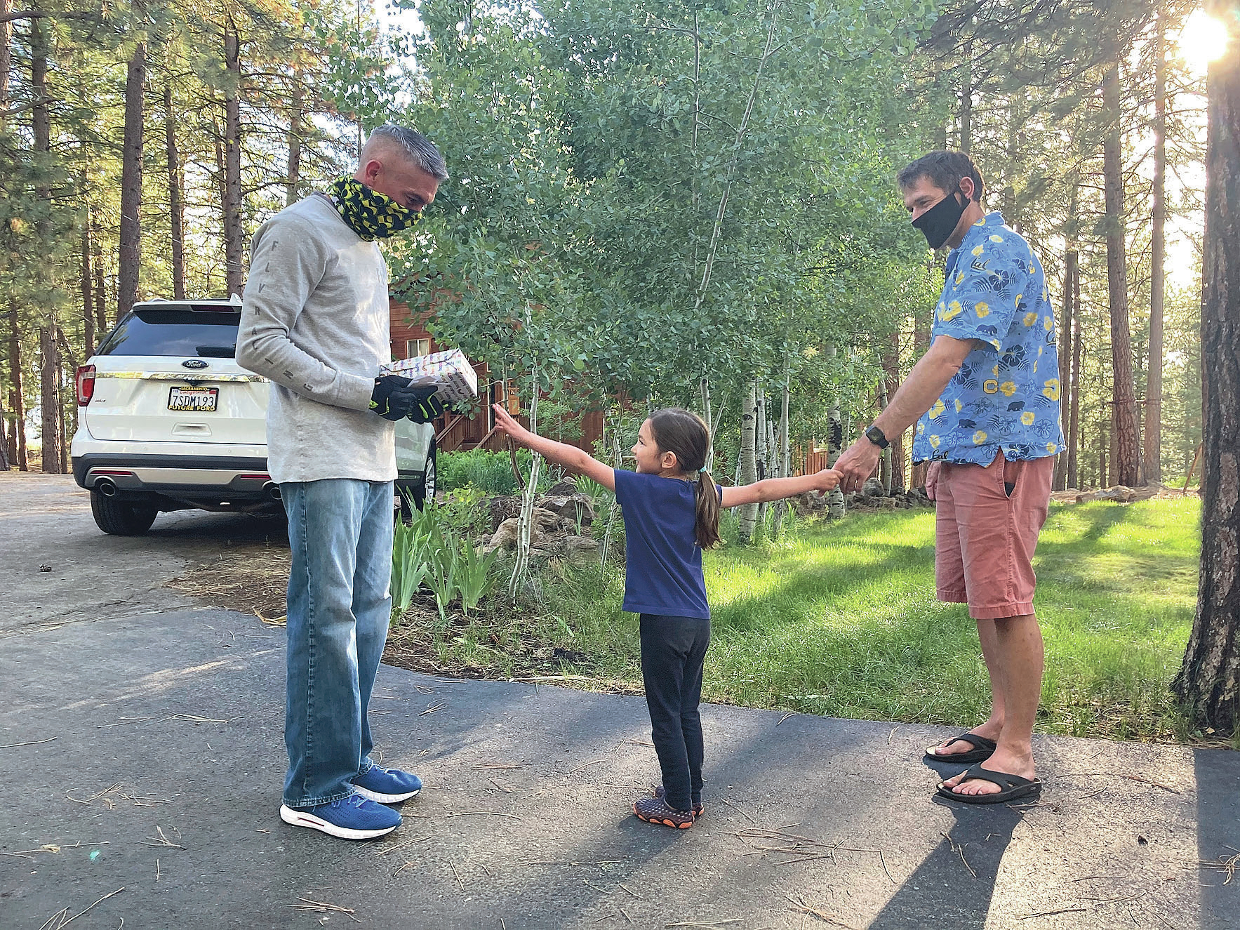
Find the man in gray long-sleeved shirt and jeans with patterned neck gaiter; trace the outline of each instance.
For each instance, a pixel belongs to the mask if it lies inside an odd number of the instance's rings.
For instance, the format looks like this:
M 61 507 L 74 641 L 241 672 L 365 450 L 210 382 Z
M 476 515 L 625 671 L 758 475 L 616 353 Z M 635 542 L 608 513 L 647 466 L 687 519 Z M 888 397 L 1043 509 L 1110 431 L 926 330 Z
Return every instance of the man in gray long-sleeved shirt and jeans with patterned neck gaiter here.
M 417 775 L 370 756 L 367 706 L 392 613 L 396 422 L 443 413 L 391 361 L 376 238 L 413 226 L 448 179 L 439 150 L 376 129 L 357 172 L 268 219 L 250 243 L 237 361 L 272 381 L 268 471 L 289 516 L 289 771 L 280 818 L 346 839 L 392 832 Z

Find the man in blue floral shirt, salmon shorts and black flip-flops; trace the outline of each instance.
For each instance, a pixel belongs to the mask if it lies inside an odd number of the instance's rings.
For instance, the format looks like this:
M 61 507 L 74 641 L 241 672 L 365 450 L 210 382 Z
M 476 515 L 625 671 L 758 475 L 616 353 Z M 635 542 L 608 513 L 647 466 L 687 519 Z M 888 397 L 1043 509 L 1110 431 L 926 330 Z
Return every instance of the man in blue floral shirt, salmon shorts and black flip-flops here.
M 983 211 L 972 159 L 934 151 L 898 180 L 930 247 L 952 249 L 946 280 L 930 348 L 835 467 L 842 490 L 859 489 L 887 436 L 916 420 L 913 459 L 930 460 L 926 491 L 937 505 L 935 588 L 940 600 L 968 604 L 992 694 L 985 723 L 926 756 L 976 763 L 940 782 L 940 795 L 998 804 L 1042 791 L 1032 745 L 1043 672 L 1032 562 L 1064 448 L 1055 315 L 1029 243 Z

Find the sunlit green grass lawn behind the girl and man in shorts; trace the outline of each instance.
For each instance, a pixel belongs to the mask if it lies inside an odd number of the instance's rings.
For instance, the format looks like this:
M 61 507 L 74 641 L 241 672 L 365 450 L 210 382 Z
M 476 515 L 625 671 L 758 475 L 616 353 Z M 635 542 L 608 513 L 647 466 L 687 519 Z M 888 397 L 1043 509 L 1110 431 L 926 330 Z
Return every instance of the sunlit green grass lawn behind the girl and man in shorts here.
M 1197 599 L 1197 500 L 1052 505 L 1035 568 L 1047 641 L 1039 730 L 1189 739 L 1168 683 Z M 963 605 L 934 598 L 934 512 L 857 513 L 784 541 L 707 553 L 713 611 L 704 699 L 863 719 L 972 725 L 990 706 Z M 444 660 L 511 675 L 548 647 L 564 675 L 640 682 L 622 578 L 544 578 L 533 615 L 438 634 Z

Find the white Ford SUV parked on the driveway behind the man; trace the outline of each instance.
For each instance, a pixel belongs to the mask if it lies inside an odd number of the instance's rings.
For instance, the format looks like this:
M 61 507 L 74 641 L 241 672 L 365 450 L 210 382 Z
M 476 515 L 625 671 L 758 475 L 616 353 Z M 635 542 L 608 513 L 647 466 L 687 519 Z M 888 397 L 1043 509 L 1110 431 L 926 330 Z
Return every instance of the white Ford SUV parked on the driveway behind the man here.
M 135 304 L 78 368 L 73 477 L 105 533 L 140 536 L 160 511 L 278 511 L 267 472 L 267 378 L 236 361 L 241 303 Z M 397 489 L 435 489 L 435 432 L 397 423 Z

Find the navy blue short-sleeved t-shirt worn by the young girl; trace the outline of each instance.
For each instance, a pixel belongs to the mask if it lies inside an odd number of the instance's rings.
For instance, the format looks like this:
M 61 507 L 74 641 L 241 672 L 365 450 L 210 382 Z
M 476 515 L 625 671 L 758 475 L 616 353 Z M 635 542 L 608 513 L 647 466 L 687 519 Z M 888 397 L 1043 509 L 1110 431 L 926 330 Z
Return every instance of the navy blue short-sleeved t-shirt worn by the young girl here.
M 697 544 L 697 482 L 616 469 L 624 515 L 624 609 L 711 618 Z

